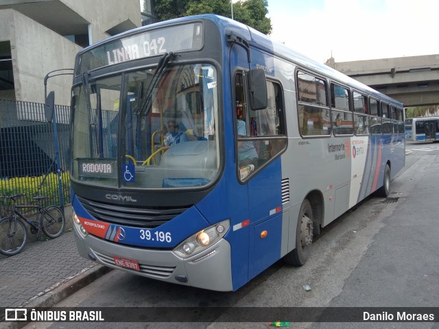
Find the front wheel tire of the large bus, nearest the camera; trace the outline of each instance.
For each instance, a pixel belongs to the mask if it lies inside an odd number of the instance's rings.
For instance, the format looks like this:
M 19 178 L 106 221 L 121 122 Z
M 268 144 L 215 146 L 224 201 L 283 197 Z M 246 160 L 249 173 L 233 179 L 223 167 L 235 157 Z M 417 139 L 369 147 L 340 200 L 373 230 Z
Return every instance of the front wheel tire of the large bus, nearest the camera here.
M 300 206 L 296 228 L 296 248 L 285 256 L 285 262 L 302 266 L 307 263 L 309 251 L 313 243 L 313 210 L 307 199 Z

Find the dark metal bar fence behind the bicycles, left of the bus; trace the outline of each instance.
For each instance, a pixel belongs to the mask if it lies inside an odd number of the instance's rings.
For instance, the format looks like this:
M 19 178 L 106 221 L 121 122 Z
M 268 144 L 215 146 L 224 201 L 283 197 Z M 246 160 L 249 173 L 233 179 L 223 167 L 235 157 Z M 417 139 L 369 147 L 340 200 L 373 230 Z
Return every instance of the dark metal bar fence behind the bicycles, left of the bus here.
M 55 110 L 65 203 L 70 200 L 70 107 Z M 54 140 L 54 124 L 46 121 L 43 103 L 0 99 L 0 195 L 24 193 L 27 201 L 45 195 L 45 204 L 60 205 Z

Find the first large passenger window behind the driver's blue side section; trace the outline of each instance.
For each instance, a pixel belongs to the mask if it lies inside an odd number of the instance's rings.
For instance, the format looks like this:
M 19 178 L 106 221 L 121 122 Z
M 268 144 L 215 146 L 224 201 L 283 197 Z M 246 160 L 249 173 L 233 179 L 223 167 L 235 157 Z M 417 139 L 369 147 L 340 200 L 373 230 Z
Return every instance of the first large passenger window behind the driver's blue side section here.
M 331 115 L 327 106 L 327 82 L 297 72 L 298 124 L 302 136 L 329 136 Z

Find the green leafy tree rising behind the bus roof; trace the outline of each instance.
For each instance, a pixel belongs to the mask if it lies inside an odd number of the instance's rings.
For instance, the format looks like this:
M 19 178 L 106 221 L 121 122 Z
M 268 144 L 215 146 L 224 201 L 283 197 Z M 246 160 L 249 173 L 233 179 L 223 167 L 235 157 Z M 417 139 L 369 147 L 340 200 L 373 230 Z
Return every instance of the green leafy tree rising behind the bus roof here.
M 268 0 L 245 0 L 233 3 L 233 19 L 263 34 L 272 32 L 268 14 Z M 198 14 L 217 14 L 231 18 L 230 0 L 156 0 L 158 21 Z

